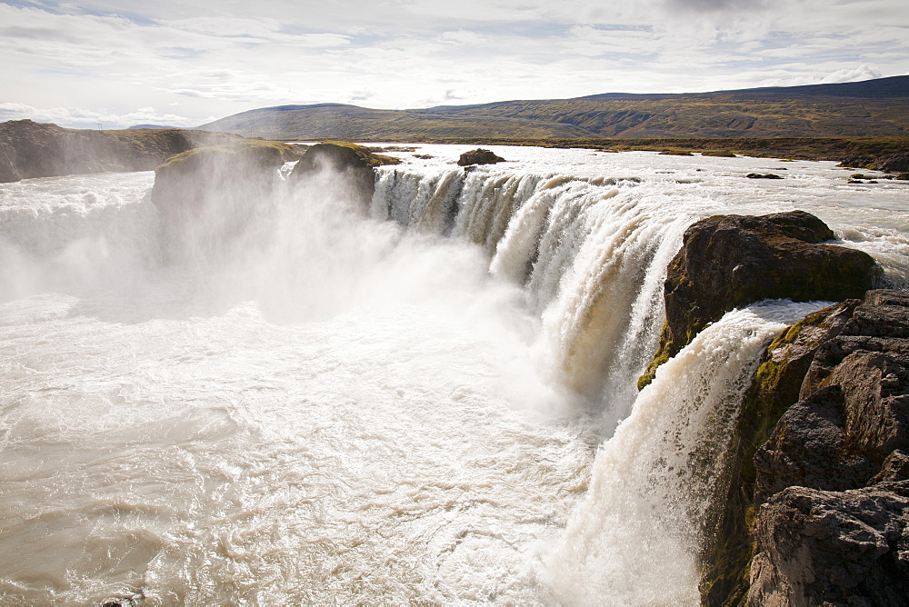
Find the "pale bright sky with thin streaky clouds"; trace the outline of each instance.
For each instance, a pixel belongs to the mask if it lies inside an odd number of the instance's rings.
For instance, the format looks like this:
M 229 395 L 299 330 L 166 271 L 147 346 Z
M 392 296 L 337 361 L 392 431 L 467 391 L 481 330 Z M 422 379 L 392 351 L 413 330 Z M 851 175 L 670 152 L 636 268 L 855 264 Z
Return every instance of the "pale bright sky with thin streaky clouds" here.
M 906 0 L 0 0 L 0 121 L 195 126 L 909 74 Z

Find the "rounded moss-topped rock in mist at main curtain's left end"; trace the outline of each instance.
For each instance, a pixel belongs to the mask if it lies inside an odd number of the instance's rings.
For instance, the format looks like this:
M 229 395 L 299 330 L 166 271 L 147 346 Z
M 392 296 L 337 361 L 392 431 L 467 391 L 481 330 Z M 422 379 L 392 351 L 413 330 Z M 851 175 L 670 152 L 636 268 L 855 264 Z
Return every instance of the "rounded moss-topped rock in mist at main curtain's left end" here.
M 333 196 L 365 211 L 373 198 L 375 167 L 400 162 L 400 158 L 375 154 L 362 145 L 324 142 L 306 150 L 291 179 L 304 186 L 315 183 L 321 195 Z M 343 177 L 336 179 L 337 175 Z

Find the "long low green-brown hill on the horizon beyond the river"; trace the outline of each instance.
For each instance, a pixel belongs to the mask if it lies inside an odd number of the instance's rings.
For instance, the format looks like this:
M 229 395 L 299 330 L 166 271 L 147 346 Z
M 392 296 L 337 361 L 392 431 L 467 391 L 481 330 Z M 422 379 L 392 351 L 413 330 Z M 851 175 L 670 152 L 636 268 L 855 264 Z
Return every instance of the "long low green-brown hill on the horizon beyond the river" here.
M 607 93 L 574 99 L 377 110 L 280 105 L 199 128 L 269 139 L 854 137 L 909 135 L 909 76 L 711 93 Z

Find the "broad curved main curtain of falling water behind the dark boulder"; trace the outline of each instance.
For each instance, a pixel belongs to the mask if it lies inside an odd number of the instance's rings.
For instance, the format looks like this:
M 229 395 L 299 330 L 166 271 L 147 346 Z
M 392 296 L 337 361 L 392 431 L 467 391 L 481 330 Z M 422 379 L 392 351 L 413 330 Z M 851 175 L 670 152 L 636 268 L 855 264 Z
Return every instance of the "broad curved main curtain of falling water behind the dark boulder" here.
M 659 213 L 638 185 L 395 167 L 377 177 L 372 214 L 476 244 L 491 274 L 523 284 L 542 324 L 538 366 L 603 413 L 608 434 L 629 412 L 635 380 L 654 352 L 665 267 L 689 223 Z

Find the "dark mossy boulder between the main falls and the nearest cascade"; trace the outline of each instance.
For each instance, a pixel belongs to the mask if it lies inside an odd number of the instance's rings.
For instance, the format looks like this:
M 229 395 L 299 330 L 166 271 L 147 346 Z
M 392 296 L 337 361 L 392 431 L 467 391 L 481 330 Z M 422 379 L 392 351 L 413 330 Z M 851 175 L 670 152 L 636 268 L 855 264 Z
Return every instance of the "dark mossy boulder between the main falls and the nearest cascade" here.
M 639 382 L 678 353 L 708 323 L 762 299 L 843 301 L 862 297 L 881 274 L 874 259 L 834 244 L 824 222 L 804 211 L 717 215 L 685 230 L 664 284 L 666 323 Z

